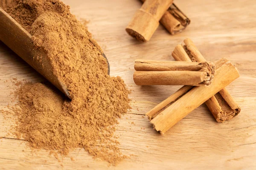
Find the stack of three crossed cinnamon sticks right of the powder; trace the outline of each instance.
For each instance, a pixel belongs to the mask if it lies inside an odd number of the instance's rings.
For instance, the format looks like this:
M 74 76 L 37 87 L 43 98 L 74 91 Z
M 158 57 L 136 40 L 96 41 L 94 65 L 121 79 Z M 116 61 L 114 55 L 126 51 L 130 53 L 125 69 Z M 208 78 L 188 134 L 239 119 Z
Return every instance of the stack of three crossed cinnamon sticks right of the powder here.
M 225 89 L 239 77 L 236 67 L 226 58 L 207 62 L 190 39 L 172 52 L 175 61 L 135 61 L 137 85 L 185 85 L 146 113 L 155 130 L 165 133 L 204 102 L 217 122 L 240 112 L 239 105 Z

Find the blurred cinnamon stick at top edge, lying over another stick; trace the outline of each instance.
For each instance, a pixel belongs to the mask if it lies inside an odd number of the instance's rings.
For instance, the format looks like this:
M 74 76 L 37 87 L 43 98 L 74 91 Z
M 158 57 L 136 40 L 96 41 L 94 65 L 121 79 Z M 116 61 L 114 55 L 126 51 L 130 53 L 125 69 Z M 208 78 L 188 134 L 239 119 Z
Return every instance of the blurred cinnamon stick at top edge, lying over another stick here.
M 140 41 L 148 41 L 159 26 L 159 20 L 173 0 L 146 0 L 126 27 L 126 32 Z

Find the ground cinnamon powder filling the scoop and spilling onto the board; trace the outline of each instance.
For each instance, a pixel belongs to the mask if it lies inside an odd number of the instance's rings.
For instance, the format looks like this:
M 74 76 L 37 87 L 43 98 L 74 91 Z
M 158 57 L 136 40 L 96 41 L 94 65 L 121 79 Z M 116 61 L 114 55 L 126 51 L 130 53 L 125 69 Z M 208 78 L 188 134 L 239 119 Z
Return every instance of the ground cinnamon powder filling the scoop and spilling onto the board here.
M 108 63 L 90 32 L 59 0 L 0 0 L 0 6 L 47 53 L 55 76 L 72 100 L 42 83 L 26 83 L 17 91 L 17 136 L 33 148 L 67 155 L 83 147 L 111 164 L 124 159 L 113 138 L 117 118 L 130 108 L 120 77 L 108 75 Z

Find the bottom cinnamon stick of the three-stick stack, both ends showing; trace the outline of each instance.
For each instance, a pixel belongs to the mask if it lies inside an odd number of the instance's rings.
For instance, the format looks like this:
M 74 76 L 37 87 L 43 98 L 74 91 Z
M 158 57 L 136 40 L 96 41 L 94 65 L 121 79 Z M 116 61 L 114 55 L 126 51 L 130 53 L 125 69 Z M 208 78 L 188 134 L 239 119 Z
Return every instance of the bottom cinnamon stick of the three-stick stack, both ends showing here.
M 184 40 L 185 45 L 177 45 L 172 56 L 177 61 L 205 62 L 206 60 L 190 39 Z M 237 116 L 241 108 L 227 91 L 223 88 L 215 96 L 205 102 L 217 122 L 224 122 Z

